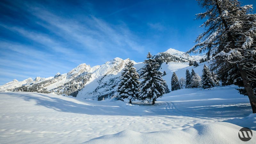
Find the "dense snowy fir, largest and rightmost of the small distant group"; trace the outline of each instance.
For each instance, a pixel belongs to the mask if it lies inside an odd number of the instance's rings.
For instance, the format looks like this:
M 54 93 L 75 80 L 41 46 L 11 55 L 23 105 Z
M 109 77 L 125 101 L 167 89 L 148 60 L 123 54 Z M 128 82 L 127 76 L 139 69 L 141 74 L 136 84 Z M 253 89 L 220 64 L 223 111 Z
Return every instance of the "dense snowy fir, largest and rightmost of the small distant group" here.
M 212 77 L 212 73 L 206 65 L 204 65 L 204 68 L 203 68 L 201 84 L 204 89 L 215 86 L 215 82 Z

